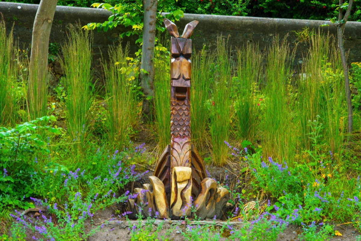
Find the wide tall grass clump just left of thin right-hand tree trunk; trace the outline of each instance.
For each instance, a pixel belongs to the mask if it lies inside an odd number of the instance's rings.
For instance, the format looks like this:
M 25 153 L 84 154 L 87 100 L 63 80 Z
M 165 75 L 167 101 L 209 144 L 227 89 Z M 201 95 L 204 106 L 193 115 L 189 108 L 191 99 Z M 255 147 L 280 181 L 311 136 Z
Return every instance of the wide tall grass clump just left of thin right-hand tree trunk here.
M 342 65 L 334 39 L 330 35 L 315 34 L 310 39 L 310 50 L 304 60 L 303 74 L 298 81 L 299 121 L 301 148 L 310 151 L 315 143 L 310 139 L 312 125 L 317 120 L 322 126 L 319 145 L 326 144 L 339 159 L 343 152 L 345 119 L 345 94 Z M 319 118 L 317 117 L 319 116 Z M 322 148 L 321 148 L 322 149 Z M 323 148 L 325 149 L 325 148 Z

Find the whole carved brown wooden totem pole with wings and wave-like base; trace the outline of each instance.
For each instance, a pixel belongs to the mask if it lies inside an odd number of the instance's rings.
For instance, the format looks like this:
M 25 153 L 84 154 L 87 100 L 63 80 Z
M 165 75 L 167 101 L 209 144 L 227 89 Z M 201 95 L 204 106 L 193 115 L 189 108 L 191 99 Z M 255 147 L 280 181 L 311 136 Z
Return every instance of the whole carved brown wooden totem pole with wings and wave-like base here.
M 191 55 L 189 39 L 198 21 L 188 23 L 179 36 L 177 26 L 164 19 L 171 37 L 170 63 L 170 136 L 171 141 L 161 154 L 151 184 L 135 188 L 135 199 L 130 199 L 132 217 L 157 216 L 179 219 L 191 217 L 191 207 L 197 218 L 220 219 L 232 207 L 229 191 L 217 187 L 217 182 L 206 175 L 203 160 L 191 144 Z

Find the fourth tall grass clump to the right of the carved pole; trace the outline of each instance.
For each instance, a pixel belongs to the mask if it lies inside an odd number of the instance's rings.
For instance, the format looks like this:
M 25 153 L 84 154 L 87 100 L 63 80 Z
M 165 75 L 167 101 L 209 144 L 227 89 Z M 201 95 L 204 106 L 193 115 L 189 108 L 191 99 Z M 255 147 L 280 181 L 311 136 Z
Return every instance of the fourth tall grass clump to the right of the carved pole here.
M 291 164 L 297 133 L 292 122 L 292 103 L 287 89 L 290 73 L 289 54 L 286 39 L 280 41 L 275 37 L 267 56 L 262 146 L 266 156 L 274 156 L 279 160 L 286 158 Z

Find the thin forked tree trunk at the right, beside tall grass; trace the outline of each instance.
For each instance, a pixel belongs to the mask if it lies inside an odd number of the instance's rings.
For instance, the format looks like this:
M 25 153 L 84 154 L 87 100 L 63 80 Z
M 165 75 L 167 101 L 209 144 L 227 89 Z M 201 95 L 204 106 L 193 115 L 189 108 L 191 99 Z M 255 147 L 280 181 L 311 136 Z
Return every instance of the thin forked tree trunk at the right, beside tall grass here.
M 346 98 L 347 98 L 347 132 L 349 134 L 352 133 L 352 125 L 353 125 L 353 118 L 352 118 L 352 101 L 351 101 L 351 89 L 350 89 L 350 79 L 348 77 L 348 66 L 346 61 L 346 54 L 345 54 L 345 48 L 343 46 L 343 30 L 345 27 L 345 24 L 347 22 L 347 19 L 350 15 L 351 8 L 352 8 L 353 0 L 350 0 L 345 16 L 342 18 L 342 8 L 339 8 L 339 23 L 337 24 L 337 40 L 338 40 L 338 46 L 340 50 L 340 56 L 342 61 L 342 68 L 343 68 L 343 76 L 345 78 L 345 92 L 346 92 Z M 339 5 L 341 6 L 343 4 L 343 0 L 339 0 Z M 342 23 L 343 20 L 343 23 Z

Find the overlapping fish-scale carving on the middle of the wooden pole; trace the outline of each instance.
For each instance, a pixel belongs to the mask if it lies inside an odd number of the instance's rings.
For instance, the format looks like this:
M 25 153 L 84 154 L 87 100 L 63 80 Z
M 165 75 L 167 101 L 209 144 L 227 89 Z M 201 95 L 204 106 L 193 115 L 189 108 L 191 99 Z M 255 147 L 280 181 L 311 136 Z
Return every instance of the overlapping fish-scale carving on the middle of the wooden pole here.
M 190 103 L 188 100 L 171 100 L 171 136 L 191 137 Z

